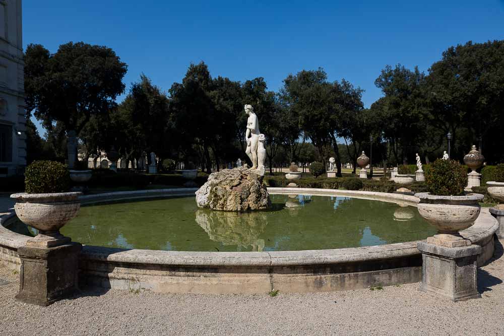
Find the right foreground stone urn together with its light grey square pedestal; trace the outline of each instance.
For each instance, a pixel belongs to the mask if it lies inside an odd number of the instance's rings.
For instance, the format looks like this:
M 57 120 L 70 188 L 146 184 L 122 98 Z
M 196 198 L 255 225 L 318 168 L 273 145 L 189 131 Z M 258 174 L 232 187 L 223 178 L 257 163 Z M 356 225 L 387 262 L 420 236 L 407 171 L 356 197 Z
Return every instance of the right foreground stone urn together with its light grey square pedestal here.
M 459 231 L 474 224 L 483 195 L 439 196 L 423 192 L 415 196 L 420 198 L 420 216 L 438 232 L 417 244 L 423 259 L 419 290 L 452 301 L 479 298 L 476 261 L 482 249 L 464 239 Z

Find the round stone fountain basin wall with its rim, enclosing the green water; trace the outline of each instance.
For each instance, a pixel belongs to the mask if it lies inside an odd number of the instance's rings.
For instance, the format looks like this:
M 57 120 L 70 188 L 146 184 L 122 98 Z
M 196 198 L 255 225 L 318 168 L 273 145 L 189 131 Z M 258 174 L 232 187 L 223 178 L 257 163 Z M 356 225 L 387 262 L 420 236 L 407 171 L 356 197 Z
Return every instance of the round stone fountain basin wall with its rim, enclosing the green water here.
M 125 199 L 194 195 L 196 188 L 139 190 L 82 195 L 82 204 Z M 312 188 L 268 188 L 271 194 L 351 196 L 415 206 L 414 196 Z M 0 216 L 0 260 L 19 270 L 18 247 L 29 237 L 7 227 L 14 211 Z M 475 224 L 461 231 L 482 246 L 478 265 L 491 258 L 497 221 L 483 209 Z M 282 293 L 364 289 L 421 281 L 417 241 L 325 250 L 278 252 L 184 252 L 119 249 L 85 245 L 80 256 L 80 281 L 89 285 L 151 290 L 160 293 Z

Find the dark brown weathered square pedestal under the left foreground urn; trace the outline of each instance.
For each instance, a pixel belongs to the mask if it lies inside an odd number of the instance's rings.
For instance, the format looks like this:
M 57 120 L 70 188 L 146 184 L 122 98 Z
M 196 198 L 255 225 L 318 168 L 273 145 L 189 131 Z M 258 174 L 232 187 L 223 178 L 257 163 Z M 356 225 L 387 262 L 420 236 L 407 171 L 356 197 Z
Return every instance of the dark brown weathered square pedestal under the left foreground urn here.
M 71 295 L 78 285 L 81 249 L 79 243 L 49 248 L 19 247 L 21 274 L 16 300 L 48 306 Z

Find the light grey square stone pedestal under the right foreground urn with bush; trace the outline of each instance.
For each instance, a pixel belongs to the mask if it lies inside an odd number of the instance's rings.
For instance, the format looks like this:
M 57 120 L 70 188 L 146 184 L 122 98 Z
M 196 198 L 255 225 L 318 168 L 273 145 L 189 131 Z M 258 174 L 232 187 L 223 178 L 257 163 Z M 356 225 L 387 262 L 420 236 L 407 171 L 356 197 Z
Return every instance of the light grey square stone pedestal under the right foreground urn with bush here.
M 452 301 L 480 298 L 476 259 L 481 246 L 445 247 L 421 241 L 422 284 L 419 290 Z

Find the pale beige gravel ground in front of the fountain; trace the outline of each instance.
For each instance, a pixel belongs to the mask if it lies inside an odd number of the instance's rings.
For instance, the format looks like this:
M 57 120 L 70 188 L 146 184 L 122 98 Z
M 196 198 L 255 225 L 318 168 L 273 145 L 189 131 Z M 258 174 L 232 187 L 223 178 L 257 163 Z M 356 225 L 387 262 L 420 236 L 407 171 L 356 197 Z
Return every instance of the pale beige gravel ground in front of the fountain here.
M 504 334 L 504 257 L 478 271 L 482 298 L 453 303 L 418 284 L 332 293 L 170 295 L 83 290 L 43 308 L 14 301 L 19 276 L 0 266 L 1 335 Z

